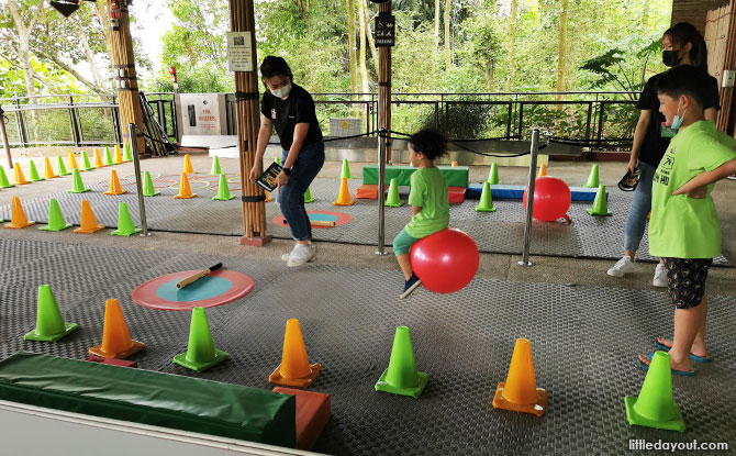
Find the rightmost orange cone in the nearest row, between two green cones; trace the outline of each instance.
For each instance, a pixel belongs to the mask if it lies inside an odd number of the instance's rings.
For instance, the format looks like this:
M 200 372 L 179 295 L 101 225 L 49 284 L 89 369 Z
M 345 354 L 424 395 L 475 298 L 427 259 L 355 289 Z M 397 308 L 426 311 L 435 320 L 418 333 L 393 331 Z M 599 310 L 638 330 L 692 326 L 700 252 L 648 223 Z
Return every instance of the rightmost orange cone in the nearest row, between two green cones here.
M 517 338 L 505 382 L 499 383 L 493 398 L 494 409 L 534 413 L 537 416 L 547 410 L 547 391 L 537 388 L 532 363 L 532 343 Z

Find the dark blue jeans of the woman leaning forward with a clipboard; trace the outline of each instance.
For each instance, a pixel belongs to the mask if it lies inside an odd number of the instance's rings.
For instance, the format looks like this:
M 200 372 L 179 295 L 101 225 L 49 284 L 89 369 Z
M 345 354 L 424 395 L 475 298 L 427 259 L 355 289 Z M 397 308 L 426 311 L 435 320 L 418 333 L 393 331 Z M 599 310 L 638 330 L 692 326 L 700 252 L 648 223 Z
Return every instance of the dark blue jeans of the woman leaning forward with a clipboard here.
M 281 163 L 286 163 L 289 151 L 281 154 Z M 281 186 L 281 192 L 276 196 L 281 214 L 289 224 L 291 237 L 297 241 L 312 238 L 312 224 L 306 209 L 304 209 L 304 192 L 324 165 L 324 143 L 313 143 L 302 146 L 299 157 L 291 168 L 289 183 Z

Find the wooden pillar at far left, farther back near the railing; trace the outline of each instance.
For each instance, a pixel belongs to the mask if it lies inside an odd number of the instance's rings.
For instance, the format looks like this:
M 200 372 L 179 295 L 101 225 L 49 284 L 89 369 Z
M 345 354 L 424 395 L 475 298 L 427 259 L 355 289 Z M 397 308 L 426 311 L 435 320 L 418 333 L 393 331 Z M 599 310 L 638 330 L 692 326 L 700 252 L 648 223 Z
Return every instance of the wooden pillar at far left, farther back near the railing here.
M 127 124 L 134 123 L 138 131 L 137 151 L 142 154 L 146 149 L 146 143 L 142 133 L 143 113 L 141 112 L 141 96 L 138 94 L 138 80 L 135 73 L 127 0 L 107 1 L 108 11 L 110 11 L 111 58 L 115 87 L 118 88 L 121 135 L 123 142 L 126 142 L 129 136 Z

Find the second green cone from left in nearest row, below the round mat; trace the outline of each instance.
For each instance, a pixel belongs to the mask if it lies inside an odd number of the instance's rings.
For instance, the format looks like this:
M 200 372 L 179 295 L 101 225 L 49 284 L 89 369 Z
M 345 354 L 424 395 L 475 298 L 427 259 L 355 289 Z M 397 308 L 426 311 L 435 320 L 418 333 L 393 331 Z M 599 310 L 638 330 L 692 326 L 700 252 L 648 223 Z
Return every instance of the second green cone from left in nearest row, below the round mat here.
M 189 326 L 189 345 L 187 352 L 174 357 L 174 363 L 188 369 L 204 371 L 219 365 L 230 355 L 214 347 L 210 324 L 203 308 L 194 308 Z

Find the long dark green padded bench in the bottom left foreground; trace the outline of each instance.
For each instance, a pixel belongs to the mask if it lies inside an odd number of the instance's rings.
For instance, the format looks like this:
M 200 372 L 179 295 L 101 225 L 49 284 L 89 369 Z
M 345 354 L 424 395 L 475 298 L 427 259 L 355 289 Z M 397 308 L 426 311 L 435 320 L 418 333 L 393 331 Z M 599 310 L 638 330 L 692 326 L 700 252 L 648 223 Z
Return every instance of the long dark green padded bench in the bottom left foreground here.
M 293 448 L 290 394 L 18 352 L 0 362 L 0 399 Z

